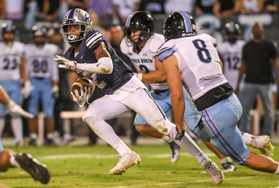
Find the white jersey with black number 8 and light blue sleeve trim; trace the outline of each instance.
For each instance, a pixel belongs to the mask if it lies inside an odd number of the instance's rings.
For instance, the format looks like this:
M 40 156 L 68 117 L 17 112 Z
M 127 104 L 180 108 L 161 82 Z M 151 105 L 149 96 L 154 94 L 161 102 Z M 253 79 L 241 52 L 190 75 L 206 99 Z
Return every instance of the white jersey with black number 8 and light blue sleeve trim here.
M 160 61 L 172 54 L 176 56 L 181 78 L 194 101 L 228 82 L 222 73 L 216 46 L 215 38 L 203 33 L 169 40 L 160 47 L 157 55 Z

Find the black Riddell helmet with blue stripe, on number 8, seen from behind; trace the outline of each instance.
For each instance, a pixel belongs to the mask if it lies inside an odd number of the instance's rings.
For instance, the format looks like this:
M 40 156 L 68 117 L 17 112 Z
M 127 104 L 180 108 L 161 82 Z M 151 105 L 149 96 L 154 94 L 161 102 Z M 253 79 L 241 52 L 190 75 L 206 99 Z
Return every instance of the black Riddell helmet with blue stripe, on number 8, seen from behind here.
M 196 22 L 188 12 L 173 12 L 165 21 L 163 34 L 166 41 L 194 36 L 197 34 Z

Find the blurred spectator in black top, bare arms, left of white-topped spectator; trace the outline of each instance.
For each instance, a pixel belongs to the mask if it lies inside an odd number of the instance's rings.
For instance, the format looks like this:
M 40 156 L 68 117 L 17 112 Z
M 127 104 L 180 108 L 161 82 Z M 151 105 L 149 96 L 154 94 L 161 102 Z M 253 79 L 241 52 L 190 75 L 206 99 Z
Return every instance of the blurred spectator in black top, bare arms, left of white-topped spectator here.
M 237 14 L 240 8 L 239 0 L 217 0 L 213 13 L 220 19 Z

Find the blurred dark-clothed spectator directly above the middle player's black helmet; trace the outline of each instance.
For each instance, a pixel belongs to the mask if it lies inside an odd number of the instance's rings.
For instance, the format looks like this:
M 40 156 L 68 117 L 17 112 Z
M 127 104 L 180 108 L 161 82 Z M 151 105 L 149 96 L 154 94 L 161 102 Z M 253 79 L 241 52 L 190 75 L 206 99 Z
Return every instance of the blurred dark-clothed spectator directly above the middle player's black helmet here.
M 141 0 L 140 10 L 150 14 L 164 14 L 164 3 L 166 0 Z

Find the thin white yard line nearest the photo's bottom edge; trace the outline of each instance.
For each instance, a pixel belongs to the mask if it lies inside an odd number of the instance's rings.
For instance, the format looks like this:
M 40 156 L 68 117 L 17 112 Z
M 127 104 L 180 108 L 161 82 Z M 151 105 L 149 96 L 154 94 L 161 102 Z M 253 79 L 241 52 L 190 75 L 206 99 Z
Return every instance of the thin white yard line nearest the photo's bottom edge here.
M 258 176 L 226 178 L 225 180 L 247 179 L 247 178 L 256 178 L 256 177 Z M 156 184 L 144 184 L 144 185 L 128 185 L 128 186 L 117 186 L 117 187 L 109 187 L 109 188 L 144 187 L 144 186 L 156 186 L 156 185 L 178 185 L 178 184 L 199 183 L 199 182 L 208 182 L 208 181 L 211 180 L 197 180 L 197 181 L 190 181 L 190 182 L 168 182 L 168 183 L 156 183 Z

